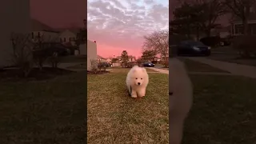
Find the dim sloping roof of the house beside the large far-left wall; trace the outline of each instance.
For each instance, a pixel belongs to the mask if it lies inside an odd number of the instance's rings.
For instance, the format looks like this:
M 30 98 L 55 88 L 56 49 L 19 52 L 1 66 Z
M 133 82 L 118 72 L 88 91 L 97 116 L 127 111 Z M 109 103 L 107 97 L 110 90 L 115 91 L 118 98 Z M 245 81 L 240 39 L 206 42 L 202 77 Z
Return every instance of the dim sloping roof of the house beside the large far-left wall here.
M 43 22 L 38 21 L 37 19 L 31 18 L 31 30 L 32 31 L 50 31 L 58 33 L 58 30 L 54 30 L 52 27 L 46 25 Z

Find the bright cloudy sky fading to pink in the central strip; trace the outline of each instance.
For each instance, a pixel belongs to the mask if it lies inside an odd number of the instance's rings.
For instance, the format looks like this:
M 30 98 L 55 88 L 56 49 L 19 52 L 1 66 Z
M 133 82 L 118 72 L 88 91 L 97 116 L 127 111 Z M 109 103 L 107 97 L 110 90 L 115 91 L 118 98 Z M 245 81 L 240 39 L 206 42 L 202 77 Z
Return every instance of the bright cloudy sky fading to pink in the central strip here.
M 88 39 L 97 42 L 98 55 L 108 58 L 126 50 L 142 55 L 143 36 L 168 30 L 169 2 L 166 0 L 88 0 Z

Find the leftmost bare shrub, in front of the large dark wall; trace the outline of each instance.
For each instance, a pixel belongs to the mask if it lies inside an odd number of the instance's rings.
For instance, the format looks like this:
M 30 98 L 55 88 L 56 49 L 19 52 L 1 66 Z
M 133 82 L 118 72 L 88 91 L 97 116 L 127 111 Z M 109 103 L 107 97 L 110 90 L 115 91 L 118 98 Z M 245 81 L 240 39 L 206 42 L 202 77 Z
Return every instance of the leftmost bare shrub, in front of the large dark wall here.
M 11 34 L 10 41 L 14 54 L 12 55 L 14 66 L 22 70 L 24 77 L 30 74 L 33 68 L 33 45 L 30 34 Z

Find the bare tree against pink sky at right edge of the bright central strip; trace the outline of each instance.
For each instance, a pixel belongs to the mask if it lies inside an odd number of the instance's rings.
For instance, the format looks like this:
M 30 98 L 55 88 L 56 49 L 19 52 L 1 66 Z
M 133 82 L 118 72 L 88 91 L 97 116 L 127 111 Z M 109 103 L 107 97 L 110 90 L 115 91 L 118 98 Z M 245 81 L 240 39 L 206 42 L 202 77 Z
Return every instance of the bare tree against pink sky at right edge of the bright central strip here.
M 154 33 L 144 36 L 145 42 L 143 48 L 145 50 L 155 50 L 158 54 L 162 56 L 165 61 L 165 66 L 167 67 L 167 59 L 169 54 L 169 31 L 159 30 Z

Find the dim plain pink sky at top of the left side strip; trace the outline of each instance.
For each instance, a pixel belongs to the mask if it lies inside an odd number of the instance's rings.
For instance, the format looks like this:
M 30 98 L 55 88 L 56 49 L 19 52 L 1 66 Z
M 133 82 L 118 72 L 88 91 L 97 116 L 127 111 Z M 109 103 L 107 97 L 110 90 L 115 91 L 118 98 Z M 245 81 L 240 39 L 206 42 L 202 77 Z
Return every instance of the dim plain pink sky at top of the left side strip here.
M 30 0 L 30 15 L 53 28 L 81 27 L 86 0 Z

